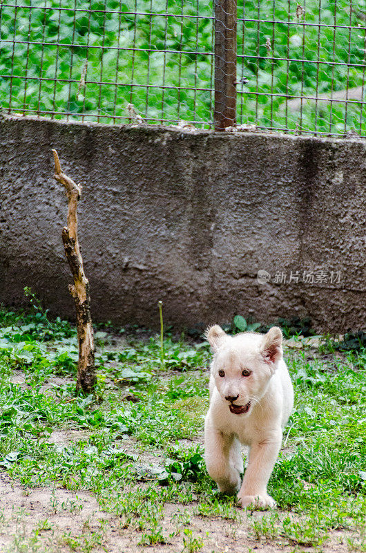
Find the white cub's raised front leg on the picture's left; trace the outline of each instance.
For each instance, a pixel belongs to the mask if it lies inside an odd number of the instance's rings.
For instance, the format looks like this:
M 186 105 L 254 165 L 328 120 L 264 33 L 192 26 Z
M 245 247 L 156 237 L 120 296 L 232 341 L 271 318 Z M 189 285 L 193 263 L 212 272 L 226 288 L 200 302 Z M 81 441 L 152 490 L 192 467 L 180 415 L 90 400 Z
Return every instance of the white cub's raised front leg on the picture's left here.
M 230 449 L 233 444 L 233 436 L 221 433 L 208 424 L 204 430 L 206 468 L 220 491 L 233 494 L 240 488 L 240 474 L 237 467 L 230 462 Z M 238 460 L 238 459 L 236 459 Z

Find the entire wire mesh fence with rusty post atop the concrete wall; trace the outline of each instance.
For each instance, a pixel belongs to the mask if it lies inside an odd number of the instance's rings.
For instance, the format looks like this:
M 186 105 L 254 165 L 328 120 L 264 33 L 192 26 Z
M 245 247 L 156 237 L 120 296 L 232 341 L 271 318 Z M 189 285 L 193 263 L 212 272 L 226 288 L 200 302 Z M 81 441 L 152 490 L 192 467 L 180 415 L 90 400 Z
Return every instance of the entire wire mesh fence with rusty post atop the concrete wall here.
M 366 136 L 366 0 L 0 0 L 6 113 Z

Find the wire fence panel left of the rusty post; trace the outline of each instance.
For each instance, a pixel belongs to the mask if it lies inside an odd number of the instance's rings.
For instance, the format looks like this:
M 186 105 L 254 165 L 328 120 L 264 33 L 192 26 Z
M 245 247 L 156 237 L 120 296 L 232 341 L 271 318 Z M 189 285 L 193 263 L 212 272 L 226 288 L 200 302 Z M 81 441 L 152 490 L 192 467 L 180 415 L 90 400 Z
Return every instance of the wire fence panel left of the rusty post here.
M 213 17 L 201 4 L 4 1 L 3 109 L 100 122 L 126 122 L 136 111 L 147 122 L 209 123 Z

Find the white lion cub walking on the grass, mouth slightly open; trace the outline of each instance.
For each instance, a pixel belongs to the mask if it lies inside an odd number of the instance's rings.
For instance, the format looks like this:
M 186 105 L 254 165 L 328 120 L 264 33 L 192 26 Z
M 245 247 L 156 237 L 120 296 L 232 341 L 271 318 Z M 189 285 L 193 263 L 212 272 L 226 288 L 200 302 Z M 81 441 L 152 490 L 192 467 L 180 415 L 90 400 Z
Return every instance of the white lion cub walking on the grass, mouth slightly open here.
M 227 335 L 215 325 L 206 331 L 214 356 L 210 407 L 204 424 L 205 460 L 220 491 L 238 491 L 242 507 L 274 507 L 267 494 L 293 407 L 293 388 L 282 359 L 282 332 Z M 249 446 L 244 472 L 240 443 Z

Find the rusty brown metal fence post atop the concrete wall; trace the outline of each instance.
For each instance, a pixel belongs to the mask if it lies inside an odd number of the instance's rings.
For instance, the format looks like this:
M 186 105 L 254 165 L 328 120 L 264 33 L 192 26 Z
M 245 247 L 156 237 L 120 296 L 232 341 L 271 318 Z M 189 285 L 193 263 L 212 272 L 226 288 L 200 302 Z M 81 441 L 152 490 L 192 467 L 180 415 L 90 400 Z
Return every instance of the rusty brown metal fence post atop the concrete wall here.
M 236 124 L 237 0 L 215 0 L 215 131 Z

